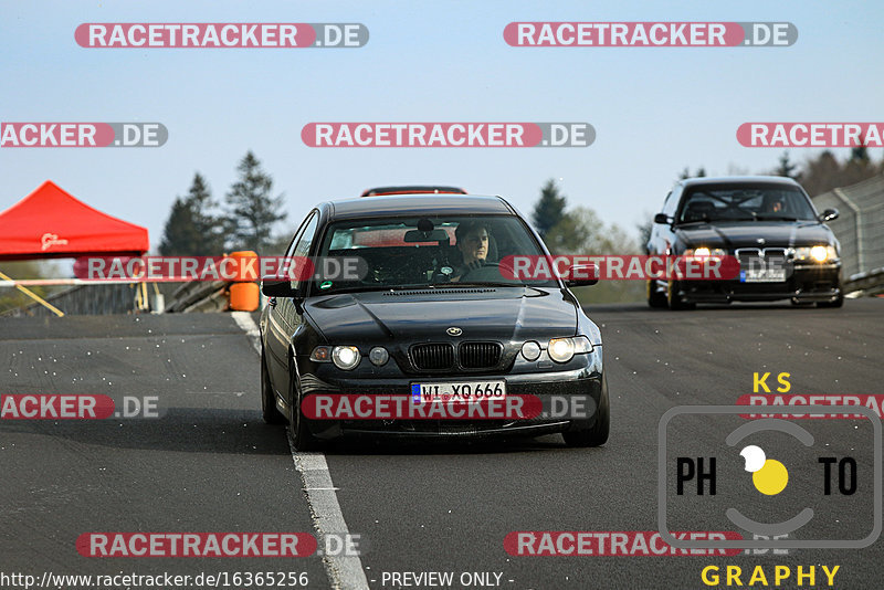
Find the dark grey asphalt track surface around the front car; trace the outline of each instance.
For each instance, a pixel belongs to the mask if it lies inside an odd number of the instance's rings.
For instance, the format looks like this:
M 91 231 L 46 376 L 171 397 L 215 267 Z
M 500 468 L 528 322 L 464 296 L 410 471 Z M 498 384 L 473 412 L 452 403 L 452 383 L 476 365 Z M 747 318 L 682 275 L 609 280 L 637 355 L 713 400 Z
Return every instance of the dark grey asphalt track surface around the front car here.
M 452 588 L 464 587 L 461 572 L 501 573 L 506 589 L 707 588 L 701 570 L 709 565 L 722 568 L 723 588 L 728 565 L 745 571 L 744 586 L 756 566 L 774 587 L 775 566 L 814 565 L 817 587 L 828 587 L 819 566 L 838 565 L 834 587 L 880 587 L 884 540 L 785 556 L 508 555 L 503 539 L 516 530 L 655 530 L 661 415 L 683 404 L 733 404 L 751 393 L 755 371 L 772 371 L 771 386 L 778 372 L 789 372 L 790 393 L 884 394 L 881 299 L 848 301 L 842 309 L 600 305 L 588 312 L 602 329 L 612 396 L 607 446 L 567 449 L 555 435 L 360 441 L 326 451 L 348 529 L 364 539 L 369 588 L 438 588 L 389 580 L 391 572 L 430 571 L 454 572 Z M 308 588 L 332 587 L 318 556 L 98 559 L 75 549 L 87 531 L 314 533 L 317 515 L 286 431 L 261 421 L 252 341 L 230 315 L 3 319 L 0 359 L 3 394 L 157 396 L 165 410 L 156 420 L 0 421 L 0 572 L 306 571 Z M 815 422 L 819 442 L 833 454 L 850 451 L 861 465 L 871 462 L 871 445 L 851 440 L 842 447 L 843 429 L 859 422 Z M 722 438 L 719 430 L 687 422 L 667 444 L 699 453 Z M 801 450 L 770 444 L 787 465 L 807 462 Z M 808 484 L 819 466 L 793 470 L 790 477 Z M 870 496 L 869 477 L 860 484 Z M 828 520 L 819 530 L 856 538 L 870 529 L 869 510 L 833 502 L 835 513 L 820 515 Z M 722 529 L 699 507 L 678 509 L 673 518 L 691 525 L 681 530 Z M 780 587 L 794 588 L 794 578 Z

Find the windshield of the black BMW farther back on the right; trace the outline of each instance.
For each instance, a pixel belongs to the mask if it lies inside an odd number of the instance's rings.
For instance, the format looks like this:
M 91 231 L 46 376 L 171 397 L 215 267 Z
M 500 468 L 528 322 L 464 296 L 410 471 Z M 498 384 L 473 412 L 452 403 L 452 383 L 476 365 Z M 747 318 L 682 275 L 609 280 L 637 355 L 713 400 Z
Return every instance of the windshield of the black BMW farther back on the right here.
M 813 220 L 803 192 L 776 185 L 709 185 L 686 189 L 677 223 Z

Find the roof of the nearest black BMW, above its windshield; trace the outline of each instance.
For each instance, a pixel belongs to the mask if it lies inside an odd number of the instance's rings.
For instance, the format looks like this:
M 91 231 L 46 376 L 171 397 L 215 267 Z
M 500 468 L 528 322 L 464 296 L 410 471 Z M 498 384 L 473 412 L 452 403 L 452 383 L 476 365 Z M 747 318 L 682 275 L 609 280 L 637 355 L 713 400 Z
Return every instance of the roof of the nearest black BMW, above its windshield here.
M 396 194 L 329 201 L 323 206 L 329 221 L 381 215 L 516 214 L 501 197 L 475 194 Z

